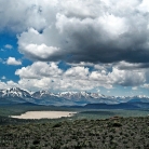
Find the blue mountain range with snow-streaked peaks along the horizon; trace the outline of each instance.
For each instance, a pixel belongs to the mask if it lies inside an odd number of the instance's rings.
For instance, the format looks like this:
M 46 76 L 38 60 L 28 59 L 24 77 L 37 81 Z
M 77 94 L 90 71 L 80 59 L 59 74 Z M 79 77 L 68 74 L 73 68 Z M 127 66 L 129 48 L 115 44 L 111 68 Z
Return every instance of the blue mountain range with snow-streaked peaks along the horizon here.
M 149 103 L 147 96 L 106 96 L 99 93 L 38 91 L 30 93 L 23 89 L 0 90 L 0 105 L 36 104 L 54 106 L 85 106 L 87 104 L 118 105 L 123 103 Z M 113 106 L 114 107 L 114 106 Z

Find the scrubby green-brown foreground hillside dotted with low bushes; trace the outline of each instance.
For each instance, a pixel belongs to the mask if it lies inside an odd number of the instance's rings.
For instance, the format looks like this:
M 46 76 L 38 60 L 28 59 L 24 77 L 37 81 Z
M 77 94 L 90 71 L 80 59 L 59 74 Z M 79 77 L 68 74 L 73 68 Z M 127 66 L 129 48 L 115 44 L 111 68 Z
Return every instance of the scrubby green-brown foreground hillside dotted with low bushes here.
M 0 148 L 149 149 L 149 118 L 0 125 Z

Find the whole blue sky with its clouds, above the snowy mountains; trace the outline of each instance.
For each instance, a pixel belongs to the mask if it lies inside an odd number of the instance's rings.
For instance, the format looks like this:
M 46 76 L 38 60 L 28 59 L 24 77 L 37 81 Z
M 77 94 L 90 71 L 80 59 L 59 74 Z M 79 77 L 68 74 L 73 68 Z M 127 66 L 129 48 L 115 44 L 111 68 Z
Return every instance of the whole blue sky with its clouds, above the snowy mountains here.
M 149 96 L 148 0 L 0 0 L 0 89 Z

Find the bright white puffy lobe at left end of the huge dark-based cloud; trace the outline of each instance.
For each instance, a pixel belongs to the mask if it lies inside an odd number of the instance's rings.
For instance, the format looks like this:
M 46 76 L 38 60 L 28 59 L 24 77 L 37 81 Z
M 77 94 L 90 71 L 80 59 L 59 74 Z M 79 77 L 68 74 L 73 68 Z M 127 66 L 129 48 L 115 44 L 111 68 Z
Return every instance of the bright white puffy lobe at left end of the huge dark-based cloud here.
M 18 37 L 19 52 L 26 57 L 38 60 L 50 60 L 50 57 L 60 55 L 60 49 L 49 46 L 44 43 L 44 37 L 33 28 L 23 32 Z

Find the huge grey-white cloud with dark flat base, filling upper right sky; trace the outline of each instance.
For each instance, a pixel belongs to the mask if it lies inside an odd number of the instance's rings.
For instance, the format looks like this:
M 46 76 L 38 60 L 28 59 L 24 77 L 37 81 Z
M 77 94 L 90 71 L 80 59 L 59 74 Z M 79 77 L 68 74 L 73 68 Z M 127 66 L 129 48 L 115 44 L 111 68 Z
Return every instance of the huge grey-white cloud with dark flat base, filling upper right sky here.
M 42 32 L 29 29 L 18 36 L 19 52 L 28 58 L 68 63 L 149 63 L 145 0 L 53 0 L 54 4 L 48 6 L 38 3 L 43 12 L 50 6 L 52 13 L 50 19 L 46 13 L 41 15 L 46 21 Z M 55 11 L 54 6 L 57 8 Z

